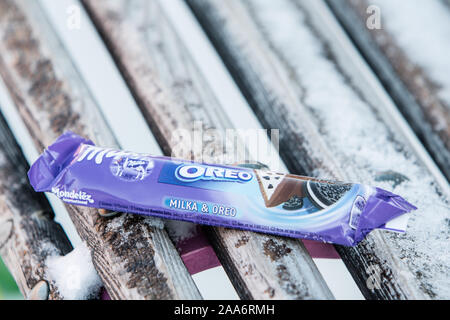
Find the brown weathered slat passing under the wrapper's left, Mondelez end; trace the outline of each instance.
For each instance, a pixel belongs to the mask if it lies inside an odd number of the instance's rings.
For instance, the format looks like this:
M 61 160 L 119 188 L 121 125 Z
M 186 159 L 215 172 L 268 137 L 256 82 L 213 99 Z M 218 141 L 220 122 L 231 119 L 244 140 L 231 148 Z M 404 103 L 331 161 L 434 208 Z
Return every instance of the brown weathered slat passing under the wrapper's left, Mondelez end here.
M 39 151 L 66 130 L 117 146 L 35 2 L 0 2 L 0 38 L 0 74 Z M 200 298 L 159 220 L 66 207 L 112 298 Z

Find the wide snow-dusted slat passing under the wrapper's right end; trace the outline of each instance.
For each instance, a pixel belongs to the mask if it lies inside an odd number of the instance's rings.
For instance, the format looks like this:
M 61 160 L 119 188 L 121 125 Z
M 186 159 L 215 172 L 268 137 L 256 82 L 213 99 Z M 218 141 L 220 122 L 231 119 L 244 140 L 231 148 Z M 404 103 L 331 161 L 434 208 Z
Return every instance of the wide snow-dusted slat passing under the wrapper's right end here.
M 419 207 L 406 234 L 337 247 L 365 296 L 448 298 L 448 186 L 326 6 L 187 2 L 260 120 L 280 129 L 290 170 L 393 189 Z

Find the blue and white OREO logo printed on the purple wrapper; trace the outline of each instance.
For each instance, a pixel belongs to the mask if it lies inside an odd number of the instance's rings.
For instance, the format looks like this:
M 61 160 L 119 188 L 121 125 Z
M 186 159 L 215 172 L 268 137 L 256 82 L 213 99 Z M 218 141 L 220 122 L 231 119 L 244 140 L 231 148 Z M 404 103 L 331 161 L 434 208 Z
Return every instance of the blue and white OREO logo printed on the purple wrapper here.
M 175 176 L 178 180 L 184 182 L 197 180 L 248 182 L 253 178 L 253 175 L 248 171 L 198 164 L 179 165 L 175 170 Z

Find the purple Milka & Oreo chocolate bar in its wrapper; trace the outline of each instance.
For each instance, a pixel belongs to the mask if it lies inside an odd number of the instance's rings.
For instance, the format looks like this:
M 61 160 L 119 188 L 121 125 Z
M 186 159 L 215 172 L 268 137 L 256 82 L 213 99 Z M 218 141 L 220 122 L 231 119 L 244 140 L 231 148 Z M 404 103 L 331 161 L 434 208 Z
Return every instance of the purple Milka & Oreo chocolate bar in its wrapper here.
M 101 148 L 72 132 L 28 176 L 70 204 L 346 246 L 416 209 L 375 187 Z

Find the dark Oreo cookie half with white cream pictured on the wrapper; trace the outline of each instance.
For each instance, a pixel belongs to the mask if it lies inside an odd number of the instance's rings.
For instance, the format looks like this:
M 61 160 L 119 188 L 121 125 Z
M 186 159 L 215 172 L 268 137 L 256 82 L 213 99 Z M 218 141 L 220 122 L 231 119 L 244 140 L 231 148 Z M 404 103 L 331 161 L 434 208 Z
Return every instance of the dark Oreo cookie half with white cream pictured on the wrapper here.
M 349 183 L 306 181 L 306 195 L 319 209 L 325 209 L 341 199 L 352 188 Z

